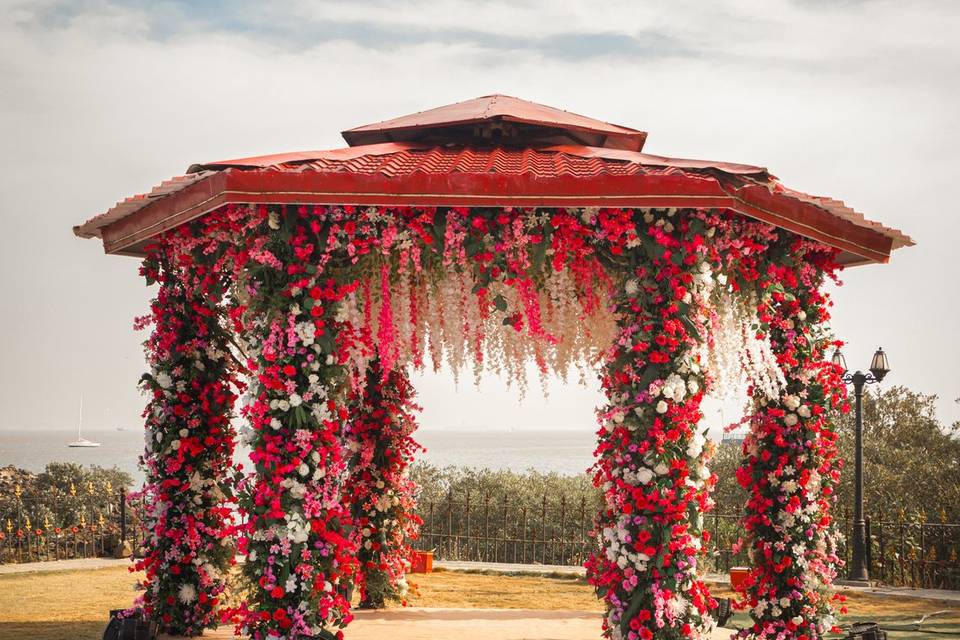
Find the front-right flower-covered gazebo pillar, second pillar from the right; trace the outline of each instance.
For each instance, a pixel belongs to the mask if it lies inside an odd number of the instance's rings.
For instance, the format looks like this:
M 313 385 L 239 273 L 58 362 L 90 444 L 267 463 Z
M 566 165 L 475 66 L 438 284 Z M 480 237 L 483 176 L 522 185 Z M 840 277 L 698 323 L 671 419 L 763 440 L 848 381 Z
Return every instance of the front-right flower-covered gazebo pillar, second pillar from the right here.
M 638 246 L 612 256 L 626 280 L 602 376 L 608 404 L 594 472 L 606 501 L 596 523 L 602 550 L 587 570 L 607 606 L 607 637 L 698 638 L 713 605 L 697 569 L 713 483 L 697 427 L 712 230 L 688 211 L 636 215 Z

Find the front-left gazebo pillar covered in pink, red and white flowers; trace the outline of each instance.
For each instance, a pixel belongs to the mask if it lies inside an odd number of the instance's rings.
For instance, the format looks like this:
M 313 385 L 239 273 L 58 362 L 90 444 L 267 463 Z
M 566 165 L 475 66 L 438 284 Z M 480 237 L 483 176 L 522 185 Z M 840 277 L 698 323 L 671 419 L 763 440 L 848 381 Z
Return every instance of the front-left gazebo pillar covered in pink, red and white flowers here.
M 350 286 L 328 270 L 321 220 L 259 207 L 247 233 L 240 295 L 253 372 L 245 416 L 254 464 L 241 494 L 241 549 L 251 584 L 239 623 L 254 640 L 337 637 L 350 621 L 353 575 L 342 425 L 348 340 L 335 319 Z M 331 630 L 331 628 L 333 630 Z

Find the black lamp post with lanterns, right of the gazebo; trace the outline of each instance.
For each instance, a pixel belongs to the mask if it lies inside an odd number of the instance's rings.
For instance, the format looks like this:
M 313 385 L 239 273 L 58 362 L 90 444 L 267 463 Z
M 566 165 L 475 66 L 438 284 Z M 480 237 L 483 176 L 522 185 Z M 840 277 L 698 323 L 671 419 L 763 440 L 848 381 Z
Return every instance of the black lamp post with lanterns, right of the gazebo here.
M 870 571 L 867 567 L 867 525 L 863 519 L 863 387 L 880 382 L 890 372 L 890 363 L 883 349 L 877 349 L 870 361 L 870 372 L 847 371 L 847 361 L 837 349 L 833 353 L 833 364 L 843 367 L 843 381 L 853 385 L 856 398 L 856 439 L 854 441 L 854 497 L 853 497 L 853 559 L 847 579 L 856 582 L 869 582 Z

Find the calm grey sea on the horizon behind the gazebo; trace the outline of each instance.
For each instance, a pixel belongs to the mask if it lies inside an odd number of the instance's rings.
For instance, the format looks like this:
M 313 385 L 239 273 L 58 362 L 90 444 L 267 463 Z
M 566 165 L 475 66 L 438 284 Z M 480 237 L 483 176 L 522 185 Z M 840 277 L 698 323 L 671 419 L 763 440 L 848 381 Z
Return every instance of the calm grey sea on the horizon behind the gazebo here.
M 137 458 L 143 451 L 143 430 L 84 430 L 84 438 L 99 442 L 95 448 L 70 448 L 75 430 L 0 431 L 0 467 L 13 465 L 40 472 L 50 462 L 117 467 L 136 483 L 143 479 Z M 573 430 L 454 430 L 423 429 L 414 438 L 426 451 L 419 460 L 438 467 L 555 472 L 561 475 L 585 473 L 593 462 L 595 434 Z M 243 463 L 249 451 L 238 447 L 235 462 Z M 244 465 L 249 468 L 249 464 Z

